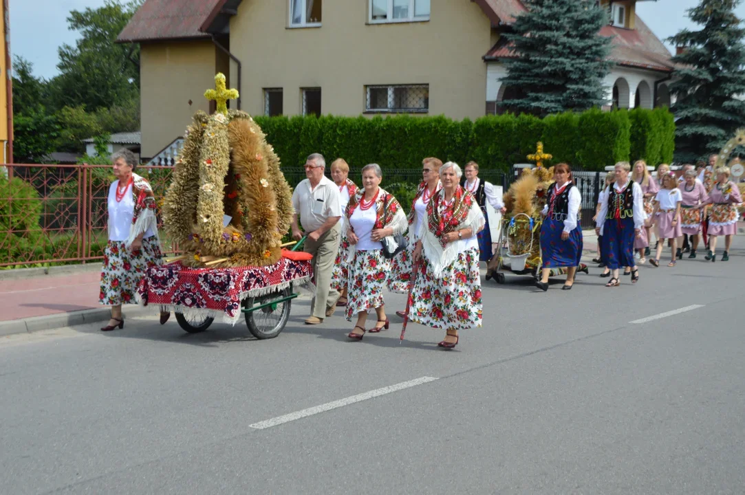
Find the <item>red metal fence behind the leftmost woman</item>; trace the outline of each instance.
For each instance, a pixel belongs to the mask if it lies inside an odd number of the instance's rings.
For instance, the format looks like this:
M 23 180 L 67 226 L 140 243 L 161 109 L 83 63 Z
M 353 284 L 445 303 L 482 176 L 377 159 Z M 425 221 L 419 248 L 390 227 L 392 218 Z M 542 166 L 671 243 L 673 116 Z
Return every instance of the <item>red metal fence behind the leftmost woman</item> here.
M 0 167 L 0 266 L 85 262 L 103 258 L 108 239 L 107 197 L 115 180 L 107 165 Z M 173 167 L 142 167 L 156 200 L 165 196 Z M 161 233 L 163 231 L 161 230 Z M 161 234 L 165 252 L 174 246 Z

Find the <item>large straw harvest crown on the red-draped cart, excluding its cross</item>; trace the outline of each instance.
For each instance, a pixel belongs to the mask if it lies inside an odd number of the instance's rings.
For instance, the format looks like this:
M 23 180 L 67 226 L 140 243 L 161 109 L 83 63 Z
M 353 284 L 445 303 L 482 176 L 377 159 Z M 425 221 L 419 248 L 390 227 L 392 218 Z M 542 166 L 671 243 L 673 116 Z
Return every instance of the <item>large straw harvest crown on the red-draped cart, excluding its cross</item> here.
M 183 250 L 182 263 L 275 264 L 291 215 L 290 185 L 253 118 L 235 110 L 197 112 L 163 205 L 165 230 Z

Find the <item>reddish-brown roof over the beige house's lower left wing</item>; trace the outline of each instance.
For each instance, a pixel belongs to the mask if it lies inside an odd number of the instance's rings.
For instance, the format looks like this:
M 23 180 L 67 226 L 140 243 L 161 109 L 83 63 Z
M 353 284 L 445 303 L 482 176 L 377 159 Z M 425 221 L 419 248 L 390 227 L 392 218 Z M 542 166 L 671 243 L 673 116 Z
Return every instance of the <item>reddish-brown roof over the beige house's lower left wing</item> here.
M 118 42 L 203 38 L 200 31 L 221 0 L 145 0 L 119 33 Z

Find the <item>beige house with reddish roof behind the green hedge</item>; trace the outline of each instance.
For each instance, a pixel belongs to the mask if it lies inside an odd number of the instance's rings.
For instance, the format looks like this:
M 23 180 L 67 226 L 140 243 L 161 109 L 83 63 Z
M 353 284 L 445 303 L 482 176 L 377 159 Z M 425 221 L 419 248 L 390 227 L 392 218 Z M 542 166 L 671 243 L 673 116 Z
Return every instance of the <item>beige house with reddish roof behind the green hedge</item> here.
M 635 30 L 635 1 L 609 4 L 624 19 L 615 28 Z M 191 114 L 210 110 L 203 93 L 218 71 L 241 93 L 231 107 L 252 115 L 496 112 L 510 56 L 500 35 L 524 10 L 521 0 L 145 0 L 118 38 L 142 49 L 142 156 L 177 153 Z M 669 74 L 618 64 L 653 85 Z

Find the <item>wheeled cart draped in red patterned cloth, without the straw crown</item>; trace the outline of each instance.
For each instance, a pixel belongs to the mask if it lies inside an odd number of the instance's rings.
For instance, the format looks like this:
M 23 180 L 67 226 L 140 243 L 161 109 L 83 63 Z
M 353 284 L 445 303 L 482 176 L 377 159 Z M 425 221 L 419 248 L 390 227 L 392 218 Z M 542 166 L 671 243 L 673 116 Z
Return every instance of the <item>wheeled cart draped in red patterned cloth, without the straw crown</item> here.
M 273 339 L 290 318 L 292 299 L 298 296 L 294 286 L 312 289 L 312 273 L 310 260 L 286 256 L 269 266 L 228 268 L 189 268 L 177 261 L 148 269 L 139 296 L 145 306 L 157 304 L 174 312 L 188 333 L 203 332 L 215 318 L 235 325 L 243 314 L 253 336 Z

